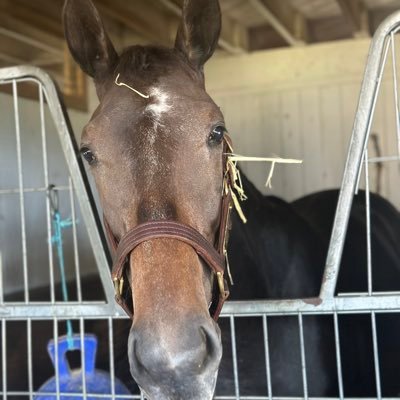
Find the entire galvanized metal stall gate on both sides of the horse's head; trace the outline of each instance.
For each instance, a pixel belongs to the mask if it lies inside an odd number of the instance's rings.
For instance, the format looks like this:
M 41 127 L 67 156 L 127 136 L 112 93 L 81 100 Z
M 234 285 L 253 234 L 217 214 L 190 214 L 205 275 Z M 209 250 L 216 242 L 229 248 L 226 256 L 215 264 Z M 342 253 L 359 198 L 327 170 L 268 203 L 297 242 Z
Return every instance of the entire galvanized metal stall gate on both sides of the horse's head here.
M 400 13 L 393 14 L 378 29 L 369 54 L 368 64 L 362 85 L 360 102 L 355 118 L 353 135 L 350 143 L 348 161 L 345 168 L 343 184 L 334 220 L 333 231 L 326 261 L 326 269 L 321 287 L 320 296 L 308 300 L 277 300 L 277 301 L 252 301 L 252 302 L 230 302 L 223 310 L 221 324 L 229 328 L 226 339 L 231 348 L 225 348 L 231 356 L 229 364 L 231 372 L 231 388 L 227 392 L 217 393 L 216 399 L 273 399 L 282 397 L 274 393 L 271 384 L 272 369 L 274 363 L 270 359 L 271 342 L 269 338 L 271 321 L 284 316 L 290 318 L 297 329 L 298 357 L 300 365 L 300 376 L 302 381 L 302 394 L 296 398 L 315 398 L 309 388 L 310 376 L 315 373 L 310 365 L 306 325 L 310 318 L 318 317 L 325 319 L 332 331 L 332 348 L 334 355 L 334 373 L 337 379 L 337 393 L 335 398 L 348 398 L 344 385 L 344 371 L 346 366 L 342 364 L 340 335 L 341 318 L 346 315 L 358 315 L 368 319 L 370 327 L 370 349 L 372 354 L 373 387 L 372 398 L 397 397 L 397 395 L 385 396 L 382 389 L 381 364 L 379 352 L 379 339 L 377 333 L 377 318 L 380 315 L 400 313 L 400 293 L 387 292 L 376 293 L 373 290 L 372 279 L 372 255 L 371 255 L 371 218 L 369 213 L 370 190 L 369 190 L 369 165 L 372 162 L 383 162 L 399 160 L 398 155 L 370 159 L 368 157 L 368 138 L 371 130 L 374 109 L 377 103 L 379 88 L 383 79 L 385 66 L 388 64 L 389 54 L 392 64 L 392 79 L 394 86 L 394 102 L 396 111 L 397 141 L 400 143 L 400 119 L 397 94 L 397 66 L 395 34 L 400 29 Z M 18 97 L 21 85 L 29 84 L 31 90 L 37 93 L 37 102 L 27 103 Z M 118 379 L 124 380 L 124 372 L 118 368 L 121 359 L 126 353 L 127 332 L 119 336 L 124 329 L 119 323 L 124 321 L 121 310 L 114 303 L 114 289 L 111 284 L 108 262 L 102 237 L 100 236 L 100 225 L 94 212 L 93 200 L 86 180 L 85 171 L 77 158 L 77 149 L 69 126 L 68 117 L 63 109 L 62 102 L 57 94 L 56 88 L 43 71 L 31 67 L 17 67 L 0 70 L 0 85 L 7 88 L 10 96 L 0 97 L 2 114 L 2 125 L 0 138 L 1 154 L 4 151 L 15 150 L 13 163 L 15 168 L 7 167 L 4 163 L 5 157 L 0 157 L 1 187 L 0 187 L 0 214 L 2 225 L 6 223 L 15 226 L 15 232 L 11 233 L 2 228 L 0 230 L 0 318 L 1 318 L 1 386 L 0 394 L 6 398 L 33 399 L 39 398 L 43 393 L 38 388 L 49 377 L 52 364 L 46 354 L 46 344 L 49 339 L 57 342 L 60 335 L 69 329 L 78 333 L 77 348 L 85 349 L 85 334 L 95 333 L 102 335 L 99 339 L 97 365 L 107 370 L 111 376 L 111 386 L 105 394 L 89 393 L 86 390 L 85 374 L 82 374 L 82 390 L 75 393 L 77 398 L 142 398 L 141 395 L 127 395 L 117 393 Z M 2 96 L 2 95 L 0 95 Z M 6 101 L 11 105 L 7 109 Z M 29 121 L 20 118 L 21 108 L 36 107 L 36 114 L 29 114 Z M 8 111 L 7 111 L 8 110 Z M 35 116 L 34 116 L 35 115 Z M 9 132 L 4 130 L 5 120 L 9 119 Z M 34 120 L 36 122 L 34 122 Z M 51 120 L 52 122 L 49 122 Z M 33 129 L 37 135 L 36 145 L 24 147 L 24 129 Z M 51 127 L 49 124 L 54 124 Z M 48 146 L 51 139 L 49 132 L 53 130 L 59 138 L 60 152 L 54 156 L 49 154 Z M 7 137 L 7 139 L 5 139 Z M 400 145 L 399 145 L 400 147 Z M 29 170 L 24 165 L 24 157 L 36 154 L 35 171 Z M 66 167 L 60 170 L 60 158 L 65 157 Z M 3 160 L 3 161 L 2 161 Z M 68 169 L 68 175 L 65 170 Z M 368 287 L 366 292 L 335 294 L 335 287 L 339 272 L 342 250 L 344 246 L 346 229 L 352 205 L 353 195 L 358 190 L 361 181 L 362 170 L 365 174 L 365 201 L 367 221 L 367 265 L 366 274 Z M 36 173 L 39 177 L 33 177 Z M 64 174 L 64 175 L 63 175 Z M 29 179 L 27 179 L 27 176 Z M 29 180 L 29 186 L 27 182 Z M 14 182 L 14 185 L 12 184 Z M 35 184 L 32 185 L 31 183 Z M 60 199 L 59 207 L 55 207 L 51 193 L 57 193 Z M 9 208 L 5 211 L 7 203 Z M 38 212 L 34 207 L 38 206 Z M 9 210 L 13 210 L 10 212 Z M 57 255 L 53 248 L 54 229 L 52 223 L 55 211 L 60 211 L 63 217 L 71 216 L 71 221 L 65 225 L 71 225 L 70 230 L 65 230 L 64 245 L 68 247 L 66 261 L 69 267 L 64 271 L 70 282 L 70 297 L 65 297 L 65 279 L 63 271 L 58 272 Z M 41 213 L 41 218 L 37 215 Z M 33 215 L 33 217 L 31 217 Z M 8 219 L 7 219 L 8 218 Z M 18 223 L 16 222 L 18 221 Z M 30 244 L 34 243 L 34 246 Z M 83 249 L 82 249 L 83 247 Z M 18 248 L 17 254 L 10 254 L 8 249 Z M 45 249 L 46 256 L 32 256 L 39 249 Z M 93 288 L 92 283 L 81 278 L 83 252 L 93 253 L 92 262 L 97 266 L 100 282 L 95 287 L 96 296 L 86 298 L 87 287 Z M 67 259 L 67 253 L 72 254 Z M 10 272 L 11 271 L 11 272 Z M 40 282 L 48 282 L 46 290 L 38 286 Z M 21 280 L 20 297 L 7 292 L 8 282 L 15 279 Z M 34 282 L 34 284 L 32 283 Z M 35 283 L 36 282 L 36 283 Z M 96 286 L 97 285 L 97 286 Z M 18 285 L 17 285 L 18 286 Z M 93 292 L 93 290 L 91 291 Z M 72 293 L 72 296 L 71 296 Z M 238 325 L 243 324 L 258 326 L 260 345 L 256 348 L 256 356 L 262 361 L 261 369 L 254 372 L 257 383 L 263 385 L 261 393 L 252 391 L 243 378 L 240 363 L 243 363 L 246 354 L 237 346 Z M 253 321 L 253 322 L 250 322 Z M 254 323 L 254 321 L 256 321 Z M 344 323 L 344 322 L 343 322 Z M 125 324 L 126 325 L 126 324 Z M 121 327 L 122 326 L 122 327 Z M 125 336 L 124 336 L 125 335 Z M 248 338 L 248 332 L 246 333 Z M 251 336 L 255 338 L 255 336 Z M 252 340 L 252 339 L 251 339 Z M 254 339 L 256 340 L 256 339 Z M 325 338 L 319 338 L 324 341 Z M 327 339 L 326 339 L 327 340 Z M 293 343 L 292 343 L 293 344 Z M 254 353 L 251 354 L 252 357 Z M 53 390 L 47 390 L 53 398 L 63 398 L 61 383 L 59 382 L 59 353 L 55 351 L 55 386 Z M 76 362 L 84 370 L 85 352 L 82 351 Z M 244 368 L 249 365 L 251 370 L 258 364 L 250 360 L 249 364 L 244 362 Z M 45 372 L 41 374 L 41 371 Z M 50 372 L 49 372 L 50 371 Z M 400 375 L 400 372 L 399 372 Z M 260 378 L 259 378 L 260 377 Z M 262 378 L 261 378 L 262 377 Z M 288 375 L 288 384 L 291 377 Z M 356 378 L 355 378 L 356 379 Z M 400 380 L 400 376 L 399 376 Z M 367 383 L 360 382 L 360 385 Z M 131 388 L 130 388 L 131 389 Z M 74 396 L 72 395 L 72 397 Z M 69 394 L 71 396 L 71 394 Z

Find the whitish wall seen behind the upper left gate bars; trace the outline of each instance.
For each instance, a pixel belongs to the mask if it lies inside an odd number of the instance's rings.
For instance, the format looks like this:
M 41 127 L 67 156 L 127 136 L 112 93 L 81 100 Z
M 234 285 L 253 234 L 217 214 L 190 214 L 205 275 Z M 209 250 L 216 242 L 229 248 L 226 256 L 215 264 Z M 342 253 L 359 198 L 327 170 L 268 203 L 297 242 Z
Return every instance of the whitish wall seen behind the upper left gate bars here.
M 18 99 L 22 152 L 22 172 L 25 188 L 45 187 L 39 103 L 23 98 Z M 13 98 L 0 94 L 0 190 L 18 188 L 18 164 L 15 134 Z M 69 112 L 77 136 L 87 122 L 86 113 Z M 68 173 L 58 139 L 57 131 L 48 110 L 45 114 L 47 131 L 47 155 L 49 182 L 57 186 L 68 186 Z M 0 264 L 4 293 L 23 289 L 23 256 L 21 240 L 21 213 L 18 194 L 0 195 Z M 46 193 L 25 193 L 24 210 L 26 223 L 27 270 L 29 287 L 49 284 L 48 237 L 46 216 Z M 60 192 L 62 218 L 71 216 L 71 205 L 67 192 Z M 86 228 L 77 207 L 79 261 L 83 275 L 96 271 Z M 72 230 L 64 231 L 64 255 L 67 276 L 75 276 Z M 54 275 L 59 280 L 58 262 L 54 251 Z M 1 289 L 1 287 L 0 287 Z

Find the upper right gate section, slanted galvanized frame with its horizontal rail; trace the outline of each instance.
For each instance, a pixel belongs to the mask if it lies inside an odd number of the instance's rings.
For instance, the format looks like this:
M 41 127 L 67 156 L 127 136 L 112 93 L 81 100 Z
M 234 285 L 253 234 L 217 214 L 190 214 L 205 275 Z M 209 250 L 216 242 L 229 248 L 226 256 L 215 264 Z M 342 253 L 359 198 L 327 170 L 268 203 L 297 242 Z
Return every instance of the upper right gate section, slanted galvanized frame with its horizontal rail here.
M 326 259 L 326 266 L 318 298 L 298 300 L 266 300 L 251 303 L 228 303 L 223 314 L 254 315 L 259 313 L 355 313 L 368 311 L 400 311 L 400 293 L 373 293 L 371 274 L 371 244 L 370 244 L 370 213 L 369 213 L 369 175 L 368 164 L 376 159 L 368 158 L 367 144 L 370 135 L 372 119 L 378 99 L 378 93 L 383 79 L 383 72 L 391 50 L 393 66 L 394 104 L 396 110 L 396 135 L 400 143 L 400 118 L 398 102 L 397 61 L 395 51 L 395 34 L 400 29 L 400 12 L 390 15 L 377 29 L 368 54 L 367 65 L 361 87 L 359 103 L 355 116 L 347 162 L 343 174 L 339 200 L 336 208 L 334 224 Z M 397 155 L 381 157 L 378 161 L 400 161 L 399 146 Z M 364 167 L 366 181 L 367 203 L 367 250 L 368 250 L 368 293 L 354 293 L 352 296 L 335 297 L 336 282 L 339 275 L 347 225 L 354 194 Z

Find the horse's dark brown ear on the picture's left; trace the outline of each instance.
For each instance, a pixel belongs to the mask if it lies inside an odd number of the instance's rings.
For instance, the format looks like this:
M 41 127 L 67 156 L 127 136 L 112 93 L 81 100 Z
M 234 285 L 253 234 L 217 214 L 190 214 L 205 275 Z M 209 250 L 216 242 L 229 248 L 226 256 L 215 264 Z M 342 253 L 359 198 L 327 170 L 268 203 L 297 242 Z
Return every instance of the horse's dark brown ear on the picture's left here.
M 118 55 L 91 0 L 65 0 L 63 25 L 75 61 L 95 80 L 115 66 Z

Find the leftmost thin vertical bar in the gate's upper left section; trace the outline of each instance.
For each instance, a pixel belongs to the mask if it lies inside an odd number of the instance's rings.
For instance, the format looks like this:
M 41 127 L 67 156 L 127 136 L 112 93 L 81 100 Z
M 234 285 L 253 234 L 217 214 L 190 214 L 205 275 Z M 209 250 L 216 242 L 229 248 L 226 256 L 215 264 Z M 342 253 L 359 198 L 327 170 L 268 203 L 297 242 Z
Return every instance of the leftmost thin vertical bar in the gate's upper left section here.
M 24 274 L 24 297 L 25 303 L 29 303 L 29 281 L 28 281 L 28 256 L 26 250 L 26 225 L 25 225 L 25 200 L 24 200 L 24 177 L 22 172 L 22 150 L 21 150 L 21 130 L 19 125 L 18 90 L 17 82 L 12 81 L 13 101 L 14 101 L 14 120 L 15 138 L 17 144 L 17 167 L 18 167 L 18 189 L 19 189 L 19 208 L 21 213 L 21 239 L 22 239 L 22 268 Z

